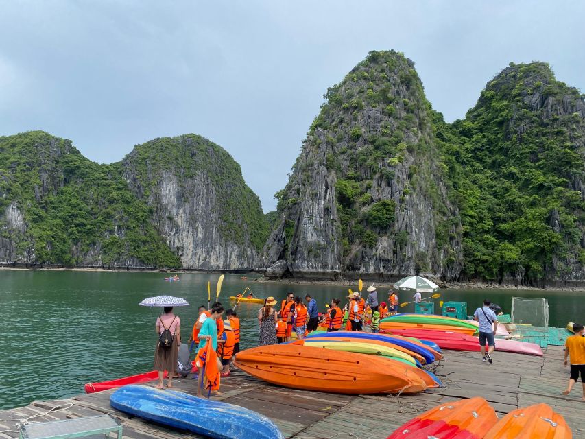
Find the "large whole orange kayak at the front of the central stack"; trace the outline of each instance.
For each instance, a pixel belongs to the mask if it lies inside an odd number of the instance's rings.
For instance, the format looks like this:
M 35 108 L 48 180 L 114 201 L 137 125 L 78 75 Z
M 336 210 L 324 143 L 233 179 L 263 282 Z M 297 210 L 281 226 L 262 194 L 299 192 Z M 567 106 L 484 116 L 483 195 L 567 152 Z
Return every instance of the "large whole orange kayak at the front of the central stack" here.
M 239 352 L 235 365 L 269 383 L 318 392 L 374 394 L 427 388 L 410 366 L 389 361 L 360 353 L 272 344 Z

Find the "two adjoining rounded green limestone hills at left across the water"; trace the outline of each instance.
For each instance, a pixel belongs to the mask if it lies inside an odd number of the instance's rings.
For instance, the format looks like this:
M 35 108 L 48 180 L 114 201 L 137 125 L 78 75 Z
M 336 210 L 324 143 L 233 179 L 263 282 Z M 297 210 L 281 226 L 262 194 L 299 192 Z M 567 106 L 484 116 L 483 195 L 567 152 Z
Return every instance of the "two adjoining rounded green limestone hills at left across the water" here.
M 239 165 L 201 137 L 111 165 L 45 132 L 0 138 L 0 263 L 249 269 L 266 227 Z

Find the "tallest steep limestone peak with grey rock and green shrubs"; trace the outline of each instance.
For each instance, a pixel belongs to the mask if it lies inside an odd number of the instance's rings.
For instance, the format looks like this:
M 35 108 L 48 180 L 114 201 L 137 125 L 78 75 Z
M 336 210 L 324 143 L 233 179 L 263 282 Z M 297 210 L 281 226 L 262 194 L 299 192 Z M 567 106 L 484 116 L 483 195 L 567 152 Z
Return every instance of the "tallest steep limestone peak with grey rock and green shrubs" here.
M 264 248 L 267 274 L 453 278 L 462 254 L 414 63 L 370 52 L 329 88 Z

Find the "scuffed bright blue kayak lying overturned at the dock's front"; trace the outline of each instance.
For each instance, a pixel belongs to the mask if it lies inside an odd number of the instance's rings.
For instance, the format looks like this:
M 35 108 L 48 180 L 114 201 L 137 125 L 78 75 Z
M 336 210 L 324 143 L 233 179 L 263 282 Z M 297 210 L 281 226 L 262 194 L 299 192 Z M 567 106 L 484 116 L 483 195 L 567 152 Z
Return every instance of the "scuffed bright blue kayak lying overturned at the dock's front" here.
M 257 412 L 173 390 L 125 385 L 112 393 L 110 405 L 121 412 L 214 439 L 284 439 L 272 420 Z

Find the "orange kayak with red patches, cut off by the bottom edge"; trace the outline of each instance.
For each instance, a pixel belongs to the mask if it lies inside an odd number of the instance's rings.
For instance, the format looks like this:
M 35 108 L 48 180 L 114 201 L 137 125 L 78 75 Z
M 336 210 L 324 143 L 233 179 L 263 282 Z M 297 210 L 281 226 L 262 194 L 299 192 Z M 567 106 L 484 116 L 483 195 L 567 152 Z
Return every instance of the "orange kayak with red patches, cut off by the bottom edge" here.
M 401 425 L 387 439 L 481 439 L 497 421 L 488 401 L 476 396 L 438 405 Z

